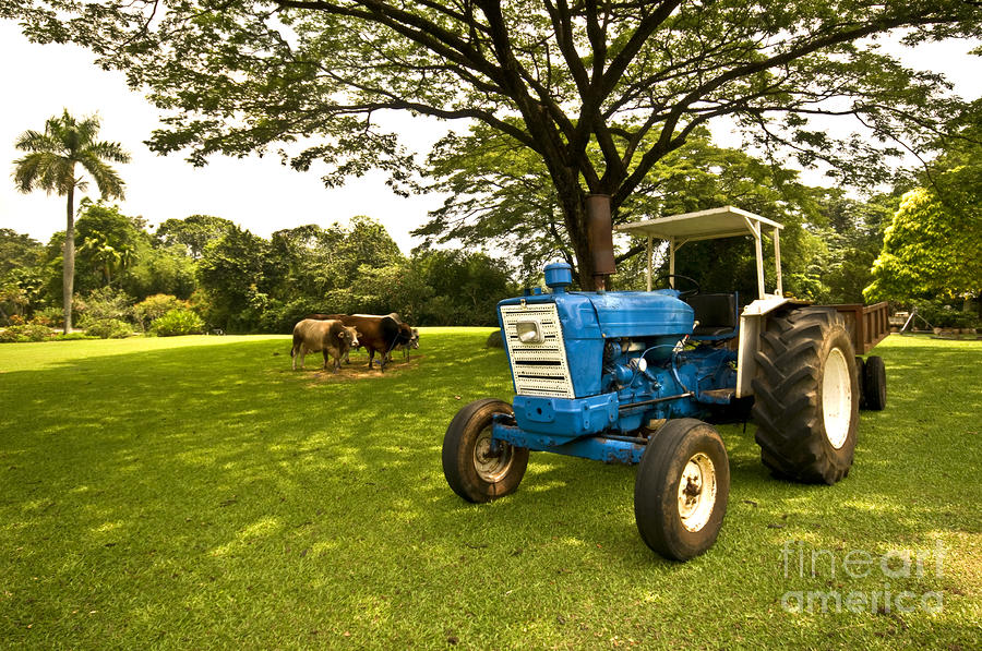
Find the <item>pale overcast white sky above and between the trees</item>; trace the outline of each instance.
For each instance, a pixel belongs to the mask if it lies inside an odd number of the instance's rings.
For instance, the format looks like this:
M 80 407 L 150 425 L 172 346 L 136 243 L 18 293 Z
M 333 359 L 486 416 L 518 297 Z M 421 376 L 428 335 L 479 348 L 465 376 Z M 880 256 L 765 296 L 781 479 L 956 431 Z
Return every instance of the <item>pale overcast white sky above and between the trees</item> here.
M 982 96 L 982 62 L 967 52 L 966 41 L 922 46 L 903 55 L 909 65 L 945 72 L 967 98 Z M 974 44 L 978 45 L 978 44 Z M 409 231 L 427 219 L 442 197 L 396 196 L 385 177 L 372 173 L 327 190 L 314 172 L 295 172 L 276 156 L 231 159 L 213 157 L 204 168 L 184 162 L 180 154 L 157 156 L 143 141 L 158 125 L 156 109 L 129 91 L 120 73 L 105 72 L 92 63 L 92 55 L 74 46 L 34 45 L 16 24 L 0 21 L 0 164 L 7 178 L 0 181 L 0 228 L 29 233 L 41 242 L 64 229 L 64 198 L 35 192 L 20 194 L 10 173 L 12 161 L 23 154 L 14 140 L 27 129 L 44 130 L 45 120 L 67 108 L 75 117 L 98 113 L 101 140 L 117 141 L 132 162 L 117 166 L 127 183 L 121 209 L 140 215 L 153 227 L 165 219 L 193 214 L 230 219 L 252 232 L 273 231 L 304 224 L 327 226 L 368 215 L 385 225 L 404 253 L 418 244 Z M 394 117 L 392 122 L 414 148 L 426 152 L 446 129 L 434 120 Z M 733 144 L 733 143 L 721 143 Z M 810 180 L 810 182 L 816 182 Z M 93 184 L 93 196 L 97 191 Z M 81 197 L 77 197 L 81 198 Z

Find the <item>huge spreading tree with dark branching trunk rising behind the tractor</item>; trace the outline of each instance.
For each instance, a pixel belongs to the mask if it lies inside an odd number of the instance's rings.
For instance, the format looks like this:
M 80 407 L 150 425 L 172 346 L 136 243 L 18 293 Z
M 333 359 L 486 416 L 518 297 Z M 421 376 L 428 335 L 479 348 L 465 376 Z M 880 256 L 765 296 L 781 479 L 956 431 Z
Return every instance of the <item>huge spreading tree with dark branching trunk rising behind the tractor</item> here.
M 584 287 L 587 195 L 616 212 L 651 166 L 726 117 L 854 179 L 894 141 L 924 146 L 960 109 L 943 79 L 905 68 L 877 37 L 982 35 L 973 0 L 0 0 L 0 15 L 148 86 L 169 112 L 152 146 L 196 164 L 296 143 L 284 157 L 326 162 L 328 184 L 369 167 L 398 184 L 412 159 L 380 111 L 488 124 L 548 170 Z M 810 121 L 824 116 L 852 116 L 872 137 L 836 140 Z

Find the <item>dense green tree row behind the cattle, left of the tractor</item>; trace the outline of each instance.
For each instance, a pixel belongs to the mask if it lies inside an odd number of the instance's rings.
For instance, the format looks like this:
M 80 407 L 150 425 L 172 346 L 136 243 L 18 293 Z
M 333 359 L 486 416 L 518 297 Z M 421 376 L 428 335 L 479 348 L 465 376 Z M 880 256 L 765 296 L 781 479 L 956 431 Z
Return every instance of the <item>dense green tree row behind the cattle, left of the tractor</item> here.
M 0 229 L 0 317 L 60 325 L 64 232 L 47 244 Z M 197 329 L 288 333 L 312 312 L 398 312 L 414 325 L 492 325 L 516 291 L 508 267 L 480 252 L 403 255 L 384 226 L 300 226 L 262 238 L 208 215 L 155 230 L 115 205 L 84 201 L 75 221 L 79 325 L 145 329 L 154 305 L 193 312 Z M 147 318 L 149 317 L 149 320 Z

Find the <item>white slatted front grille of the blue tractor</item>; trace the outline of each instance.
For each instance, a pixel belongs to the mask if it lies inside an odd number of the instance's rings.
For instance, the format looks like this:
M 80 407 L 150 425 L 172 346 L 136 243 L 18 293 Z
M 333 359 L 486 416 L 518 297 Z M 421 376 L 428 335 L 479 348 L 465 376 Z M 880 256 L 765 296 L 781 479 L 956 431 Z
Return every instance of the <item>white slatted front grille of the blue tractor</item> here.
M 566 347 L 559 313 L 553 303 L 536 305 L 503 305 L 501 321 L 504 324 L 508 359 L 512 360 L 512 376 L 515 393 L 519 396 L 552 396 L 575 398 L 570 366 L 566 363 Z M 527 343 L 518 340 L 516 324 L 535 321 L 539 324 L 543 341 Z

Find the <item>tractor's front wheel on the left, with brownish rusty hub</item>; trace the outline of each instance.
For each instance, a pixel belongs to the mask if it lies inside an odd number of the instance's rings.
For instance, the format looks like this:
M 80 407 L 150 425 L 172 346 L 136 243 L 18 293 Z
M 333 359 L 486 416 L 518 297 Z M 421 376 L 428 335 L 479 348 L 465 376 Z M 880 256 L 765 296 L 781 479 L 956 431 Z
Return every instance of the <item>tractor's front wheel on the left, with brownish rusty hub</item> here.
M 491 502 L 514 493 L 528 466 L 528 448 L 493 442 L 496 413 L 512 406 L 494 398 L 465 405 L 443 437 L 443 474 L 454 493 L 468 502 Z

